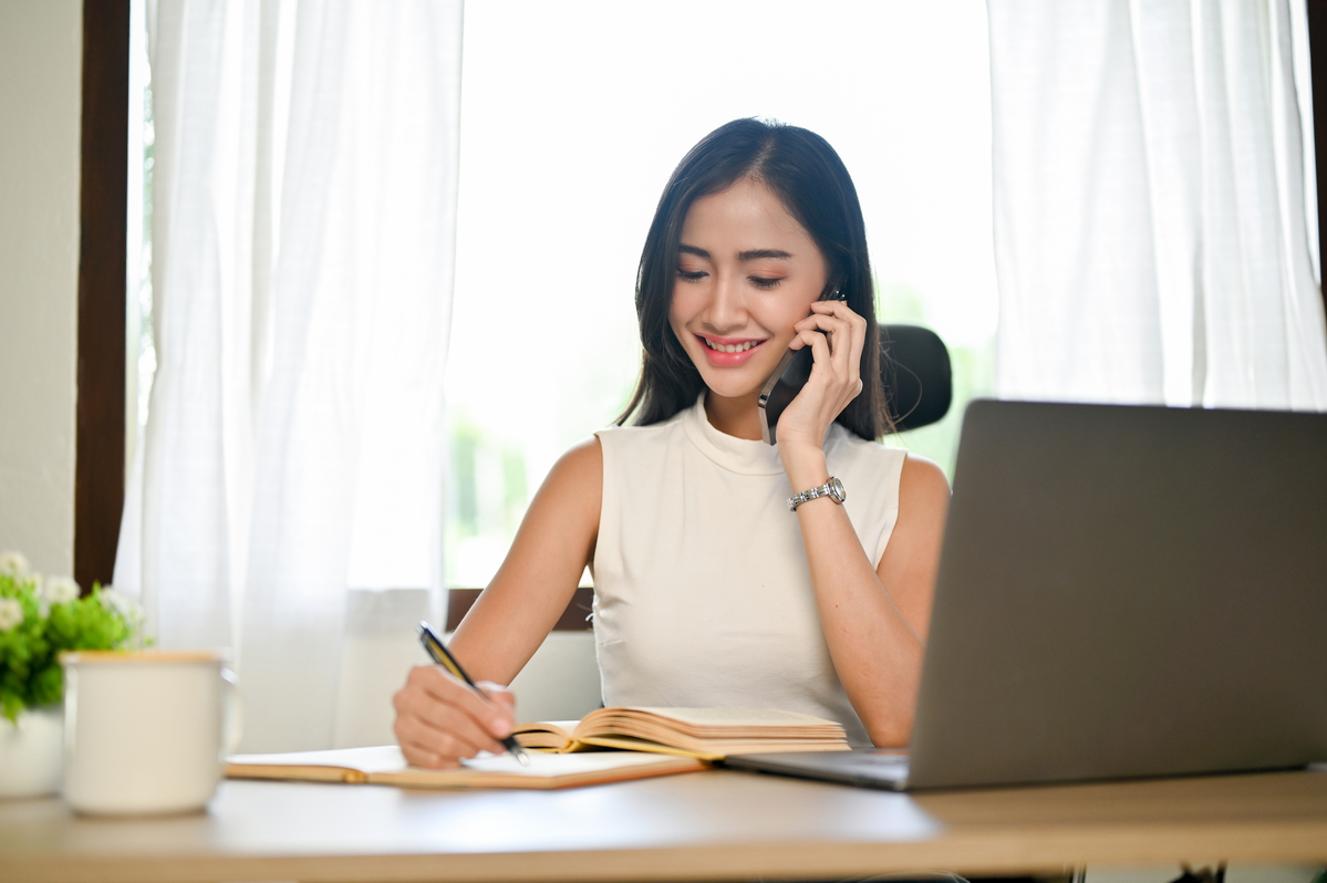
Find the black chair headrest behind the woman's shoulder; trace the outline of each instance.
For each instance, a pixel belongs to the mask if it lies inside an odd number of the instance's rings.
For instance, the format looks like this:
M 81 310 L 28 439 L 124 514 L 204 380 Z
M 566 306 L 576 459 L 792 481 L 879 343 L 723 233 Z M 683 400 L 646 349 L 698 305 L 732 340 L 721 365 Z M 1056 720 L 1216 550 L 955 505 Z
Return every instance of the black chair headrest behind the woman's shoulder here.
M 880 326 L 880 378 L 900 432 L 929 426 L 949 414 L 954 398 L 949 347 L 929 327 Z

